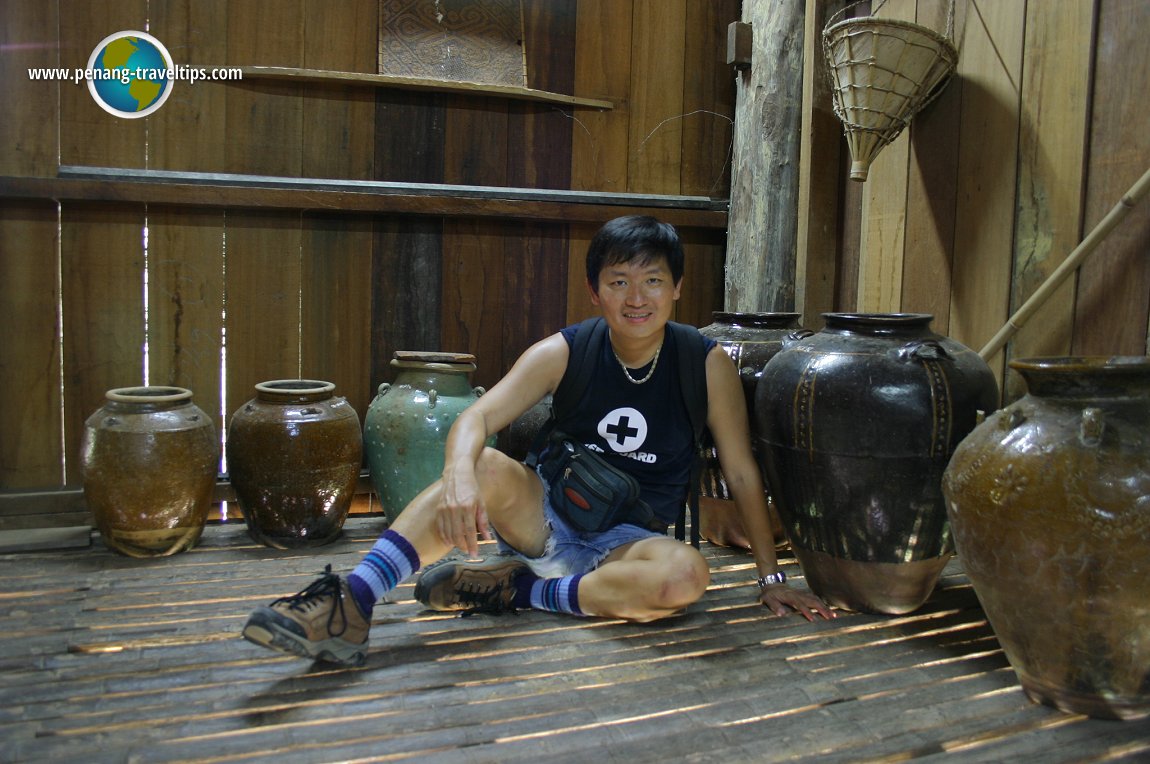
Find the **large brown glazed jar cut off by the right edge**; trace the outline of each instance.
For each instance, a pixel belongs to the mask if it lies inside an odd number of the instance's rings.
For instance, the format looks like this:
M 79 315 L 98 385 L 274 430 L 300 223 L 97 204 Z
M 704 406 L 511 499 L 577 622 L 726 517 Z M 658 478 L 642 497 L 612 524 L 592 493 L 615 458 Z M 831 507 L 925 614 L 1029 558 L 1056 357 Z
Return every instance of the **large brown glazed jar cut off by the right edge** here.
M 1150 713 L 1150 358 L 1011 362 L 1027 394 L 943 479 L 966 570 L 1026 693 Z

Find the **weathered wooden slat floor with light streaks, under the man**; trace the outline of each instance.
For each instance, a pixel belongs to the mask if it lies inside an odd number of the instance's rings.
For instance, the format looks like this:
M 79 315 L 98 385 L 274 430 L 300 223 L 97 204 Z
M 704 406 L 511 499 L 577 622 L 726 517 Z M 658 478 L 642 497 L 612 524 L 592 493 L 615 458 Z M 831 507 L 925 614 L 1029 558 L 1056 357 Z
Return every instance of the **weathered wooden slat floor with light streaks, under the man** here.
M 775 618 L 750 556 L 707 545 L 711 590 L 652 625 L 448 617 L 407 583 L 361 667 L 239 639 L 252 608 L 350 570 L 381 524 L 310 551 L 231 524 L 163 559 L 98 538 L 0 556 L 0 762 L 1150 761 L 1150 720 L 1026 698 L 958 561 L 903 617 Z

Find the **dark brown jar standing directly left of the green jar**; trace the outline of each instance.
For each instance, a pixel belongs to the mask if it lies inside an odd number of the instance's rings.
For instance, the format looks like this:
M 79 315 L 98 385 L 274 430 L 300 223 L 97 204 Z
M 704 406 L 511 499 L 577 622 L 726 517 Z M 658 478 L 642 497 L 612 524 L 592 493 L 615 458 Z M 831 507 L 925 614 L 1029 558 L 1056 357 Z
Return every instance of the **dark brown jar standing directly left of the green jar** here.
M 363 452 L 336 385 L 271 380 L 232 414 L 228 474 L 248 534 L 277 549 L 319 547 L 343 530 Z

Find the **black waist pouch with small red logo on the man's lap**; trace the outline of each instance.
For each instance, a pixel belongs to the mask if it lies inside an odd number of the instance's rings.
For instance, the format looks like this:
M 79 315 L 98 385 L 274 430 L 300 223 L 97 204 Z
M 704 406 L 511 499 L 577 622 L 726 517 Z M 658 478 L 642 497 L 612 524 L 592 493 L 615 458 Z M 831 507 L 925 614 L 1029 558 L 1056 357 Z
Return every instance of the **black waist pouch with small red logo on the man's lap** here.
M 539 469 L 552 509 L 580 530 L 601 533 L 624 522 L 647 528 L 654 522 L 634 478 L 562 433 L 551 435 Z

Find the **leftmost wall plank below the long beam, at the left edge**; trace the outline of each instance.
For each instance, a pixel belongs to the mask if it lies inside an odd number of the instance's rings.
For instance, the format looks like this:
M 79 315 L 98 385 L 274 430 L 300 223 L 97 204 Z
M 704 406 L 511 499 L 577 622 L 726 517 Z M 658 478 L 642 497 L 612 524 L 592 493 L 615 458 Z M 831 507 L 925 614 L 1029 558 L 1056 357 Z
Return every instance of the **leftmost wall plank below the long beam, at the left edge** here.
M 0 204 L 0 488 L 64 482 L 56 205 Z M 18 391 L 18 392 L 16 392 Z

